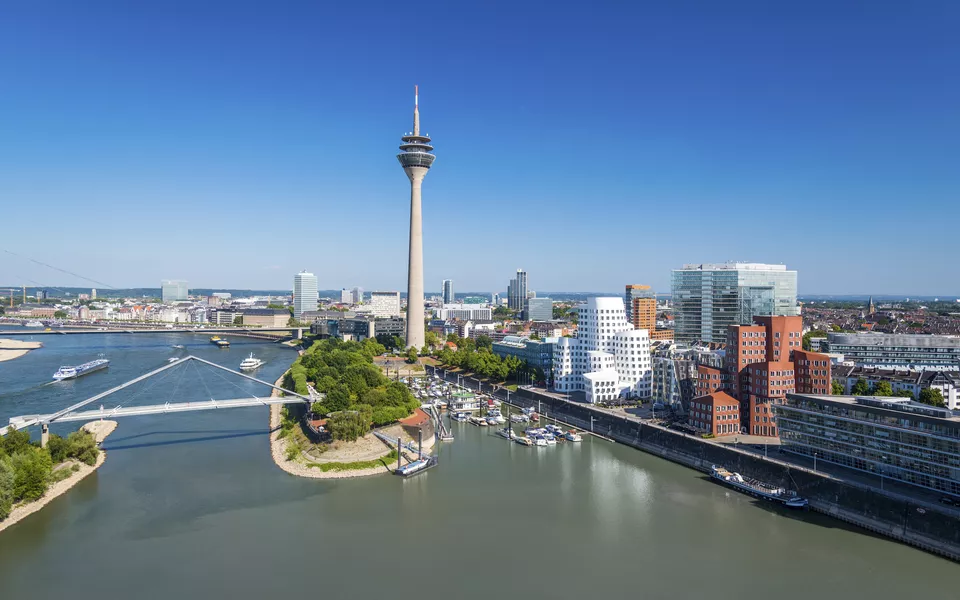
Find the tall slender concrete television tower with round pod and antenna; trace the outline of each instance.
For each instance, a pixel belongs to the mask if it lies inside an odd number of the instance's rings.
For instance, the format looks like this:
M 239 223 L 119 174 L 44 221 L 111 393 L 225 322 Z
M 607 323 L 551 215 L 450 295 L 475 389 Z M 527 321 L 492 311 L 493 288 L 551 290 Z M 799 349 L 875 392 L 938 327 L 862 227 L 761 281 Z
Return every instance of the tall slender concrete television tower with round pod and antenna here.
M 423 326 L 423 217 L 420 188 L 423 177 L 436 158 L 430 137 L 420 135 L 420 93 L 413 87 L 413 133 L 400 138 L 397 160 L 410 179 L 410 257 L 407 263 L 407 348 L 420 350 L 424 344 Z

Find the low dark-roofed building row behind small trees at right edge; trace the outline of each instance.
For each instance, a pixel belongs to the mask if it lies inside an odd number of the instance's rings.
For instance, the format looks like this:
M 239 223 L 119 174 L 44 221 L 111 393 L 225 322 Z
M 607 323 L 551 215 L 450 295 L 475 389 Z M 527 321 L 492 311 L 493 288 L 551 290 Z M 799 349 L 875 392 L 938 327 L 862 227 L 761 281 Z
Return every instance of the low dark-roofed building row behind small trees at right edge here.
M 864 380 L 870 389 L 885 381 L 890 384 L 894 395 L 909 392 L 915 400 L 920 398 L 920 392 L 925 389 L 940 390 L 947 408 L 960 410 L 960 372 L 957 371 L 912 371 L 840 365 L 833 367 L 832 372 L 833 381 L 843 387 L 844 394 L 853 394 L 853 388 L 860 379 Z

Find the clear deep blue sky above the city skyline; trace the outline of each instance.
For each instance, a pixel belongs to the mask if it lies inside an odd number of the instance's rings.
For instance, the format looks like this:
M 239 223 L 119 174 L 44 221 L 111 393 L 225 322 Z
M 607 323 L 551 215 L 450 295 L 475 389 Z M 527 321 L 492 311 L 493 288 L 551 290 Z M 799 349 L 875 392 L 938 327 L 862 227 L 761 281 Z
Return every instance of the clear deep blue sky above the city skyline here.
M 960 2 L 0 5 L 0 248 L 116 287 L 960 293 Z M 0 284 L 84 281 L 0 252 Z

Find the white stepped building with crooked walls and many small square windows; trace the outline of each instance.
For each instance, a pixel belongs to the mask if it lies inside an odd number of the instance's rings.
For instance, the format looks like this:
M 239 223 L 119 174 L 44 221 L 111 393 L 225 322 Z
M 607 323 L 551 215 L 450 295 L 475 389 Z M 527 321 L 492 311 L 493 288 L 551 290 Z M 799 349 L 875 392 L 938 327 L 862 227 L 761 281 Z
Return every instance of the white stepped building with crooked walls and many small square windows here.
M 577 311 L 577 337 L 554 346 L 554 389 L 583 391 L 591 403 L 649 397 L 650 334 L 627 322 L 623 299 L 591 298 Z

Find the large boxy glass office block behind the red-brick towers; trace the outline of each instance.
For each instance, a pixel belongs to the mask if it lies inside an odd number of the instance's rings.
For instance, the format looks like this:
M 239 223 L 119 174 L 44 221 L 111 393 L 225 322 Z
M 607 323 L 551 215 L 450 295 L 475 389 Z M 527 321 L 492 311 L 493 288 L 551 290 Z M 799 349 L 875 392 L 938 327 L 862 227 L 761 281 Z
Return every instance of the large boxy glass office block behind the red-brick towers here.
M 760 315 L 797 316 L 797 272 L 784 265 L 690 264 L 673 271 L 674 336 L 723 342 L 727 328 Z

